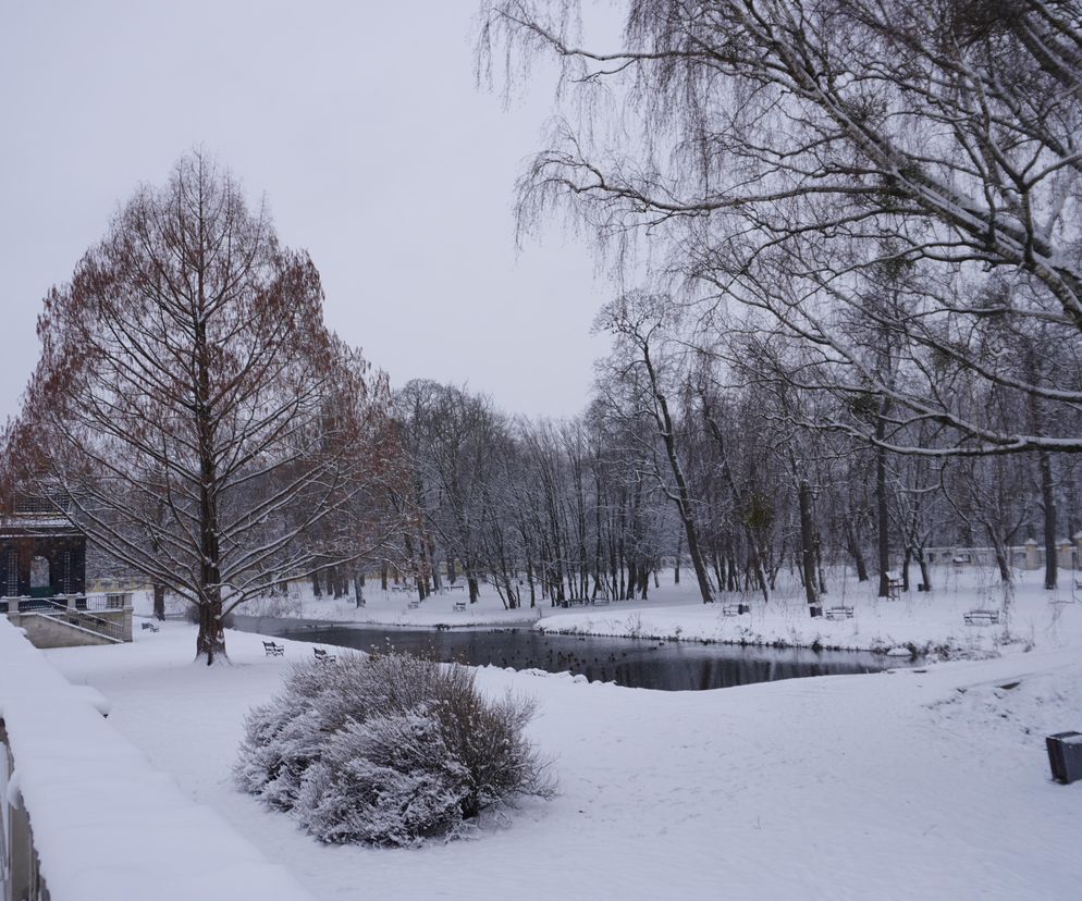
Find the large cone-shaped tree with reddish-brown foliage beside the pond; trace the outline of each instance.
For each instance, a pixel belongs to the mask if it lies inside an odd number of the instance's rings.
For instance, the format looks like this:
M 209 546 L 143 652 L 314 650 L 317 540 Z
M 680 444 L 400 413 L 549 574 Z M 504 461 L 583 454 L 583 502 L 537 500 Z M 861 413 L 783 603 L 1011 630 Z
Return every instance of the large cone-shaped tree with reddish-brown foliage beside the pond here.
M 343 536 L 380 398 L 322 297 L 311 261 L 195 152 L 120 211 L 39 319 L 19 440 L 93 542 L 196 606 L 208 665 L 238 604 L 360 553 Z

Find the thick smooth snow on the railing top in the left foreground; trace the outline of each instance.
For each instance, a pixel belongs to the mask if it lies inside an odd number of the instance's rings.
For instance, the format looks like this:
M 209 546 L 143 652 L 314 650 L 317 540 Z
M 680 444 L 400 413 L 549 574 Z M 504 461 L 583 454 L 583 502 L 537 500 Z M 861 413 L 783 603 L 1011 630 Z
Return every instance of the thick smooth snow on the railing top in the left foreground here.
M 0 726 L 13 763 L 0 807 L 9 802 L 28 815 L 34 865 L 50 901 L 310 898 L 153 769 L 3 617 Z M 0 874 L 8 863 L 0 862 Z

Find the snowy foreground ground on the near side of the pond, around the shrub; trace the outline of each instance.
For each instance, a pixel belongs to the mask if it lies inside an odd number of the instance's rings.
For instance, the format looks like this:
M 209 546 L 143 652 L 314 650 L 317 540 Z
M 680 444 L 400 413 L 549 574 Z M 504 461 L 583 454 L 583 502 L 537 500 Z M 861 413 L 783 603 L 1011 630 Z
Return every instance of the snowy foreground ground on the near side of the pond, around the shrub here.
M 529 731 L 561 794 L 420 850 L 322 847 L 233 788 L 245 712 L 309 645 L 268 658 L 230 632 L 234 666 L 207 669 L 194 628 L 168 622 L 48 656 L 318 898 L 1075 898 L 1082 783 L 1049 780 L 1044 736 L 1082 730 L 1082 655 L 1063 638 L 1082 612 L 1057 606 L 1030 652 L 872 676 L 674 693 L 481 668 L 484 691 L 538 699 Z

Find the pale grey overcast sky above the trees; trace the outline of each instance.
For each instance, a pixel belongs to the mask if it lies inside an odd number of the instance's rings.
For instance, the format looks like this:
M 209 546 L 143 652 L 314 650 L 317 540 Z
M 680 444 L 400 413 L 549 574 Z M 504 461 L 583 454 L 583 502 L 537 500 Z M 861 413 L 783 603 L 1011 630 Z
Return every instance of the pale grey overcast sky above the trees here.
M 557 224 L 516 252 L 514 181 L 551 113 L 475 87 L 476 0 L 0 0 L 0 417 L 34 323 L 118 205 L 201 145 L 306 248 L 327 319 L 395 385 L 579 411 L 611 293 Z

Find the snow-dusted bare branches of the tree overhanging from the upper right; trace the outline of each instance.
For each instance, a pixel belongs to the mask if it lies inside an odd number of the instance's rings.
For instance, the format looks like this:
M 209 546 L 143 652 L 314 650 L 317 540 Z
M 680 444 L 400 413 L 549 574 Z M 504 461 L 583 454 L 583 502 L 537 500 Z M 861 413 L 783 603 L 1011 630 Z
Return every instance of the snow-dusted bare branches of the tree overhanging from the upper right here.
M 1075 4 L 631 0 L 608 50 L 576 5 L 482 7 L 482 71 L 550 54 L 582 101 L 521 180 L 525 227 L 563 203 L 618 251 L 643 236 L 666 274 L 799 337 L 803 386 L 881 399 L 874 423 L 816 424 L 925 454 L 1082 449 Z M 868 309 L 865 273 L 898 262 L 920 284 Z M 896 366 L 870 365 L 852 317 L 905 335 Z M 1069 365 L 1029 378 L 1001 365 L 1011 342 L 988 356 L 989 328 L 1040 328 Z M 955 373 L 1057 415 L 991 422 Z M 923 422 L 940 428 L 915 446 Z

